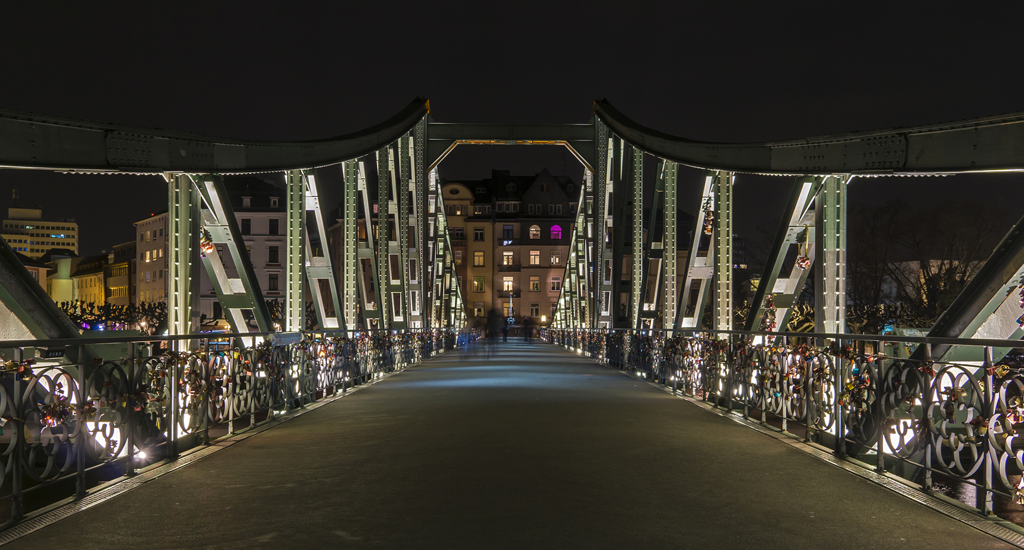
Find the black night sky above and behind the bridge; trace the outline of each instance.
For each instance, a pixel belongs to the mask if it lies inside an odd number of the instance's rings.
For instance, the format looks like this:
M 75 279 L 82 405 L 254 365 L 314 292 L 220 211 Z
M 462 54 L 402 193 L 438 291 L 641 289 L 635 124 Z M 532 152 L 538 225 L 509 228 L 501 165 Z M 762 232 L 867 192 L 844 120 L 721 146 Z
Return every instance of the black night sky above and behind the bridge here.
M 721 141 L 1024 111 L 1019 14 L 977 4 L 28 4 L 5 6 L 0 107 L 214 136 L 339 135 L 418 95 L 441 122 L 586 122 L 607 97 L 641 124 Z M 582 173 L 560 147 L 480 146 L 457 150 L 441 176 L 544 167 Z M 927 209 L 973 198 L 1019 216 L 1021 183 L 1024 174 L 872 178 L 855 180 L 851 199 Z M 790 185 L 740 175 L 737 234 L 777 222 Z M 2 170 L 3 213 L 12 187 L 22 206 L 77 218 L 83 254 L 130 240 L 132 221 L 166 206 L 159 177 Z

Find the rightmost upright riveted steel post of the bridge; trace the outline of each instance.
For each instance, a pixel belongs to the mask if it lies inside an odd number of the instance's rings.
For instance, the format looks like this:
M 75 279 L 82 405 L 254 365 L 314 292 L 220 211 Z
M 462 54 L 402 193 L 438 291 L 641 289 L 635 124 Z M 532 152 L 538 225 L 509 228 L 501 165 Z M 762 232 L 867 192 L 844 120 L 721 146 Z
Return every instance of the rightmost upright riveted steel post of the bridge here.
M 825 178 L 815 201 L 814 332 L 846 333 L 846 189 L 850 176 Z

